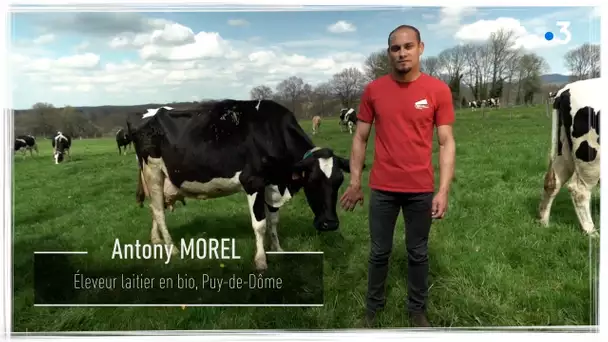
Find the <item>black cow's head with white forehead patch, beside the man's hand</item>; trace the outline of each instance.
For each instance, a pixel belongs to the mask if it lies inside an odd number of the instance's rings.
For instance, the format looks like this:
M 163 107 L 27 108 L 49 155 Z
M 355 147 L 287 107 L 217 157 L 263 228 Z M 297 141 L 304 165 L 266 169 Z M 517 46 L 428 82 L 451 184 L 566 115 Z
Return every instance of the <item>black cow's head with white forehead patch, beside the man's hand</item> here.
M 328 148 L 315 148 L 294 165 L 293 177 L 302 182 L 318 231 L 333 231 L 340 226 L 336 206 L 344 172 L 350 173 L 349 160 Z

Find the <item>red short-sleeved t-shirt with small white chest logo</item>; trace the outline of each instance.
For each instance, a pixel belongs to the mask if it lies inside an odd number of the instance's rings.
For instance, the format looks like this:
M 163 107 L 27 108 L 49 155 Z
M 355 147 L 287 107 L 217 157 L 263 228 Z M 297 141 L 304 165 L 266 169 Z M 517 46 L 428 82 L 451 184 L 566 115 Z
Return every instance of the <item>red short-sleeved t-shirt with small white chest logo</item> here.
M 454 122 L 452 93 L 445 82 L 424 73 L 409 83 L 380 77 L 365 87 L 357 118 L 375 124 L 372 189 L 435 190 L 433 130 Z

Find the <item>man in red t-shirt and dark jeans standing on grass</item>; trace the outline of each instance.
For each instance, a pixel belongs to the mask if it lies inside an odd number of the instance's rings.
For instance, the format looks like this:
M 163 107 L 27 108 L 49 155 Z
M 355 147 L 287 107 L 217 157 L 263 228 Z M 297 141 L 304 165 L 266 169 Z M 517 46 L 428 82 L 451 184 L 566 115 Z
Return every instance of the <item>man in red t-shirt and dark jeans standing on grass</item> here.
M 414 326 L 430 326 L 428 236 L 433 218 L 443 218 L 454 174 L 452 93 L 443 81 L 420 71 L 424 43 L 420 32 L 402 25 L 389 34 L 389 75 L 367 85 L 361 98 L 350 159 L 351 181 L 340 199 L 353 210 L 363 204 L 361 170 L 372 123 L 376 126 L 370 174 L 369 228 L 371 248 L 365 323 L 372 324 L 385 304 L 388 260 L 399 212 L 403 210 L 408 254 L 407 309 Z M 433 130 L 439 140 L 440 184 L 435 192 Z

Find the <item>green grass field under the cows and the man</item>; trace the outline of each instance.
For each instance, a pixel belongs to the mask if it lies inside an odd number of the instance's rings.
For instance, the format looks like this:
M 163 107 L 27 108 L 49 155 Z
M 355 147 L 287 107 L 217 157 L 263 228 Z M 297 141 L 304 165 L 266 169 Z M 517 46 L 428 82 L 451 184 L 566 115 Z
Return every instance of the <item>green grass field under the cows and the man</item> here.
M 309 122 L 302 125 L 310 131 Z M 432 324 L 595 324 L 589 275 L 597 269 L 595 255 L 590 265 L 590 249 L 597 253 L 598 240 L 590 244 L 581 233 L 565 189 L 555 200 L 551 226 L 535 221 L 551 134 L 545 107 L 492 111 L 486 118 L 462 111 L 454 132 L 457 166 L 449 211 L 433 224 L 430 237 Z M 351 136 L 340 133 L 335 120 L 323 121 L 314 141 L 349 155 Z M 373 138 L 370 142 L 368 165 Z M 111 254 L 114 238 L 148 242 L 151 228 L 149 209 L 135 203 L 132 152 L 119 156 L 112 139 L 77 140 L 72 162 L 54 165 L 50 143 L 40 144 L 40 157 L 15 156 L 14 331 L 359 327 L 367 286 L 367 206 L 353 213 L 339 209 L 340 230 L 319 235 L 311 227 L 303 193 L 281 211 L 279 238 L 285 250 L 324 251 L 324 307 L 33 307 L 33 251 L 88 250 L 101 259 Z M 368 174 L 369 168 L 364 182 Z M 346 176 L 340 193 L 348 181 Z M 592 210 L 598 224 L 599 196 Z M 243 261 L 253 260 L 254 236 L 243 194 L 178 204 L 167 214 L 167 224 L 176 241 L 234 234 L 248 246 L 241 250 Z M 408 326 L 402 217 L 396 229 L 381 327 Z

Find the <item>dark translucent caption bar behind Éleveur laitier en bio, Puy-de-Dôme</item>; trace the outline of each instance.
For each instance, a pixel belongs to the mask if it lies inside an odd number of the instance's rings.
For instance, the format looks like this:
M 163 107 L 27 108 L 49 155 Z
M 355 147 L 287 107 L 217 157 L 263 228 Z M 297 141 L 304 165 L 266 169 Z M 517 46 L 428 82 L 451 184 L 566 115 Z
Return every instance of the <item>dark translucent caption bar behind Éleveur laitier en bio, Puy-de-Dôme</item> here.
M 86 254 L 35 254 L 37 305 L 323 303 L 323 254 L 267 254 L 262 276 L 246 260 L 91 260 Z M 87 280 L 88 279 L 88 280 Z M 103 280 L 106 288 L 90 287 Z M 171 279 L 171 280 L 162 280 Z M 187 281 L 186 281 L 187 279 Z M 255 284 L 251 284 L 251 283 Z M 97 283 L 100 284 L 100 283 Z M 131 285 L 129 285 L 131 284 Z M 164 284 L 164 286 L 163 286 Z M 186 286 L 190 284 L 191 286 Z M 219 287 L 221 284 L 221 287 Z

